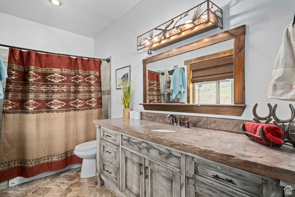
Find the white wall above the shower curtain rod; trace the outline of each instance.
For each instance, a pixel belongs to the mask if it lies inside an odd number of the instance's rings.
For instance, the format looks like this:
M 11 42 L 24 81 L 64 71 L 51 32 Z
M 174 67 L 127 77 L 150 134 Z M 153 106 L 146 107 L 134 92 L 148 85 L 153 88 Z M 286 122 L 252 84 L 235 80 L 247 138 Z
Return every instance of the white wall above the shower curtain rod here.
M 0 21 L 1 44 L 54 53 L 94 57 L 93 38 L 88 38 L 1 12 Z M 0 48 L 7 49 L 1 46 Z

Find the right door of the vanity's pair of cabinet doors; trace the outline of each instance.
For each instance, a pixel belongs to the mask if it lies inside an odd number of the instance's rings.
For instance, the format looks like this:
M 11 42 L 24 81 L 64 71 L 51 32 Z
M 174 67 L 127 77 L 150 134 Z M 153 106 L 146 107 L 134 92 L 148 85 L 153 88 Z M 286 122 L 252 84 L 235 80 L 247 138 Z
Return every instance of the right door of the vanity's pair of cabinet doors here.
M 145 159 L 145 190 L 147 197 L 181 196 L 180 173 Z

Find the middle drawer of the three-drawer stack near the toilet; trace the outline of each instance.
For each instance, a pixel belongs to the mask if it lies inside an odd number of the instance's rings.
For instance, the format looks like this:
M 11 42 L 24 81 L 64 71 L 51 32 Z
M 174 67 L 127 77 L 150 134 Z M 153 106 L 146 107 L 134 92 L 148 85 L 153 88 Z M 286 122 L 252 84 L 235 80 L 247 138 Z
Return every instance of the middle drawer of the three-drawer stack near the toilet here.
M 101 139 L 101 157 L 119 167 L 119 146 Z

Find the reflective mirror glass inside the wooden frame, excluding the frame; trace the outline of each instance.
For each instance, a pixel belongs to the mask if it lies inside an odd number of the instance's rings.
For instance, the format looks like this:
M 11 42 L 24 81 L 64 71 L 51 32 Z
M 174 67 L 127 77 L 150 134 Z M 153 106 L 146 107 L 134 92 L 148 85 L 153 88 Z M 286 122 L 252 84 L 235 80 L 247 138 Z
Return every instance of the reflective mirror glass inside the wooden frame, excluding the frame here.
M 234 104 L 233 74 L 229 74 L 233 72 L 233 63 L 220 63 L 222 67 L 202 64 L 209 59 L 207 55 L 232 49 L 233 45 L 233 39 L 227 40 L 147 64 L 147 103 Z M 191 74 L 185 62 L 192 63 L 198 57 L 200 61 L 195 64 L 201 65 L 201 69 L 192 70 Z M 221 69 L 228 74 L 220 74 Z

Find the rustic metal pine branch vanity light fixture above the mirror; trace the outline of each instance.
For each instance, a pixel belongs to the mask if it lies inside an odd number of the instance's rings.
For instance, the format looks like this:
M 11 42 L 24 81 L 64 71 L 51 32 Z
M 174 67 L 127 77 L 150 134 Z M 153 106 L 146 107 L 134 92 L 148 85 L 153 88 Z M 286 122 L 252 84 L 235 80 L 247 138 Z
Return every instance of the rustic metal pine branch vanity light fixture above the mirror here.
M 168 45 L 222 26 L 223 11 L 210 0 L 137 37 L 137 51 L 151 54 Z

